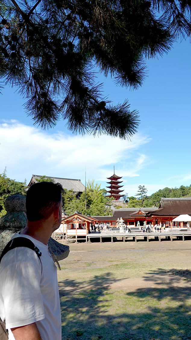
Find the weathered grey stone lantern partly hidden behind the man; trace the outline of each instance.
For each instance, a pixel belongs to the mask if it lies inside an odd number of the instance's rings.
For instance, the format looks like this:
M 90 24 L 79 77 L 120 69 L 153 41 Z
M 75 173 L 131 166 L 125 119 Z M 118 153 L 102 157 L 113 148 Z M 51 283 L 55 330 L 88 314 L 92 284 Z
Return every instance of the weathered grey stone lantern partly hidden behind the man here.
M 5 210 L 7 211 L 6 215 L 0 218 L 0 254 L 12 236 L 24 229 L 26 225 L 25 196 L 15 194 L 7 197 Z M 53 240 L 52 237 L 49 239 L 48 245 L 58 261 L 69 255 L 69 246 Z

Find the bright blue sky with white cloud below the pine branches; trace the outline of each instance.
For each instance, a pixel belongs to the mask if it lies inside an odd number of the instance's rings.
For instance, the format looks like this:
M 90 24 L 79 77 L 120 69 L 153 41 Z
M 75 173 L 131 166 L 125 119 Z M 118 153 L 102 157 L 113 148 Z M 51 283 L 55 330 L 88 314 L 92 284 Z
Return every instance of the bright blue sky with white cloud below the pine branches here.
M 76 136 L 61 120 L 42 131 L 24 112 L 22 98 L 6 86 L 0 96 L 0 173 L 30 181 L 32 174 L 95 179 L 106 187 L 106 177 L 123 176 L 124 192 L 135 195 L 139 185 L 148 194 L 158 189 L 191 184 L 190 107 L 191 44 L 174 43 L 163 57 L 147 60 L 148 77 L 135 91 L 116 86 L 110 77 L 103 95 L 114 104 L 128 98 L 140 114 L 138 133 L 131 141 L 107 136 Z

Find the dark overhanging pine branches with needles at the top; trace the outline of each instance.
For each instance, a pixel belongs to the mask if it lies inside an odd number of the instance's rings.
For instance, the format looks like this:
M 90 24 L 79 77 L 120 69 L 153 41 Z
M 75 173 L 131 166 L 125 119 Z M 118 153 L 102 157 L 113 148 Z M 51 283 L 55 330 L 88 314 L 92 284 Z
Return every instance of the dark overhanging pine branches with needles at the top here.
M 188 0 L 0 0 L 0 75 L 27 98 L 34 123 L 62 117 L 73 132 L 127 138 L 139 120 L 128 101 L 103 98 L 93 68 L 138 88 L 145 59 L 190 34 Z

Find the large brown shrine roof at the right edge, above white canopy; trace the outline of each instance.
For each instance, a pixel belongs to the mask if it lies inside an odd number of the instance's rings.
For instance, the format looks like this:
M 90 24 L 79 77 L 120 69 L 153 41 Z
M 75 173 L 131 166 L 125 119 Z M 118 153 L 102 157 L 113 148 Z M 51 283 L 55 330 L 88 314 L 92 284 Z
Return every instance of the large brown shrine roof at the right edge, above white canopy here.
M 159 208 L 149 216 L 178 216 L 191 214 L 191 197 L 161 198 Z

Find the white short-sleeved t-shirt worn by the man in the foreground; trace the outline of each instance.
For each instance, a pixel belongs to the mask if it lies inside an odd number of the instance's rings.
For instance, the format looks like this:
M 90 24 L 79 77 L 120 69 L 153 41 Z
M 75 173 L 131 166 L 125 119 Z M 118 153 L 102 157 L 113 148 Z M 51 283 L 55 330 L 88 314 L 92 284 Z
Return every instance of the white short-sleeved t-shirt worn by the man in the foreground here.
M 48 246 L 28 235 L 42 253 L 18 247 L 8 251 L 0 264 L 0 317 L 10 328 L 36 322 L 42 340 L 61 340 L 61 313 L 57 267 Z

